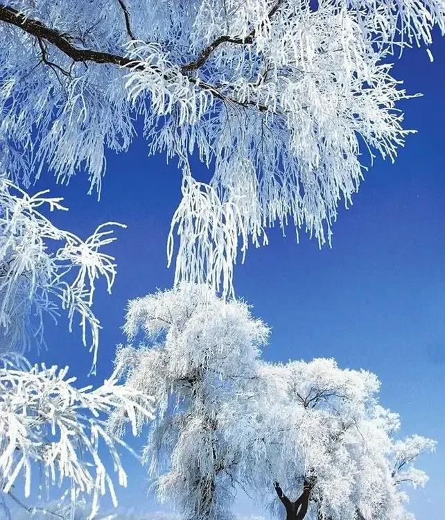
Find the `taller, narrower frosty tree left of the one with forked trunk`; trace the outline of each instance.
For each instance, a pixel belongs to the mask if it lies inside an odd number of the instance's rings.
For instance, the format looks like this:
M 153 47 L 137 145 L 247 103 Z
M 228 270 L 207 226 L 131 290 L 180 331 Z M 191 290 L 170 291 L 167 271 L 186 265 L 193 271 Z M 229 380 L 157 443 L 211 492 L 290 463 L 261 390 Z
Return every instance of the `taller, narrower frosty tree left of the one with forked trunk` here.
M 225 405 L 245 399 L 267 327 L 241 302 L 182 286 L 132 301 L 125 331 L 144 335 L 143 346 L 116 358 L 130 388 L 155 397 L 143 458 L 159 500 L 184 520 L 231 518 L 239 453 L 222 435 L 232 414 Z

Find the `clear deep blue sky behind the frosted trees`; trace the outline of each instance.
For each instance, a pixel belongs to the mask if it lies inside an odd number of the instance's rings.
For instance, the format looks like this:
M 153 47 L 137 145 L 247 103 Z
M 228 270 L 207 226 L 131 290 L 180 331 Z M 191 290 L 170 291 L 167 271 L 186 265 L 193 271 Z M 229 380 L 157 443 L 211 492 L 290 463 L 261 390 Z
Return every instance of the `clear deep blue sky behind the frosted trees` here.
M 421 460 L 430 483 L 412 494 L 418 520 L 444 518 L 445 492 L 445 42 L 437 37 L 432 50 L 434 63 L 424 49 L 415 50 L 395 69 L 409 92 L 424 93 L 403 103 L 405 128 L 419 133 L 408 138 L 395 164 L 377 160 L 366 174 L 354 206 L 340 211 L 333 247 L 320 251 L 307 236 L 297 245 L 292 230 L 286 239 L 275 230 L 267 248 L 248 252 L 235 279 L 238 297 L 273 329 L 265 358 L 327 356 L 342 367 L 372 370 L 382 381 L 382 404 L 401 413 L 402 433 L 439 441 L 435 455 Z M 195 168 L 205 175 L 198 163 Z M 166 236 L 180 182 L 176 164 L 147 157 L 138 139 L 129 153 L 108 155 L 100 202 L 87 196 L 82 173 L 68 188 L 55 186 L 49 175 L 38 183 L 65 196 L 71 211 L 56 220 L 73 232 L 87 236 L 109 219 L 128 225 L 112 248 L 119 263 L 113 293 L 96 295 L 103 324 L 97 382 L 110 372 L 114 347 L 123 340 L 127 300 L 173 282 Z M 89 354 L 78 331 L 69 335 L 64 325 L 62 319 L 47 329 L 49 351 L 40 358 L 85 376 Z M 132 475 L 134 485 L 121 493 L 124 503 L 137 497 L 140 508 L 153 507 L 144 497 L 143 473 L 134 468 Z

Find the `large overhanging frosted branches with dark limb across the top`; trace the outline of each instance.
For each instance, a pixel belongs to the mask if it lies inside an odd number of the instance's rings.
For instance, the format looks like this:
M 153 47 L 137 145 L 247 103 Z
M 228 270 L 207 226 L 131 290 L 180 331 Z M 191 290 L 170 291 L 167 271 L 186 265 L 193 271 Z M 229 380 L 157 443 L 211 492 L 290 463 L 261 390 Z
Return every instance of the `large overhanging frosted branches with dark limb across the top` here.
M 374 155 L 394 159 L 409 96 L 390 61 L 434 26 L 442 0 L 2 0 L 0 163 L 26 184 L 85 168 L 100 190 L 140 119 L 184 170 L 176 279 L 227 294 L 268 227 L 330 241 Z

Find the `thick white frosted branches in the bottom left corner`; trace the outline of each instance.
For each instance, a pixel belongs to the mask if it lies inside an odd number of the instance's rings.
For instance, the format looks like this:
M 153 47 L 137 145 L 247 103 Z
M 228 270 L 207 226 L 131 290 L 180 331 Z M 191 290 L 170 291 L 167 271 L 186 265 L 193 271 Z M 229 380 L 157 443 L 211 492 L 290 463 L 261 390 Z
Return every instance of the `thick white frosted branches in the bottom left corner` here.
M 136 415 L 145 420 L 152 417 L 152 398 L 120 385 L 119 366 L 100 387 L 77 389 L 73 386 L 76 377 L 67 376 L 68 367 L 43 363 L 30 367 L 23 366 L 23 358 L 20 361 L 5 358 L 0 369 L 1 491 L 23 505 L 15 487 L 24 480 L 28 498 L 34 475 L 40 493 L 60 487 L 73 507 L 82 496 L 91 495 L 91 509 L 85 517 L 93 519 L 99 496 L 110 493 L 117 505 L 110 467 L 119 485 L 127 484 L 118 451 L 119 446 L 127 445 L 107 430 L 107 418 L 116 408 L 124 410 L 137 435 Z M 109 462 L 105 462 L 104 449 Z M 33 506 L 26 510 L 50 511 Z M 64 518 L 60 513 L 55 516 Z

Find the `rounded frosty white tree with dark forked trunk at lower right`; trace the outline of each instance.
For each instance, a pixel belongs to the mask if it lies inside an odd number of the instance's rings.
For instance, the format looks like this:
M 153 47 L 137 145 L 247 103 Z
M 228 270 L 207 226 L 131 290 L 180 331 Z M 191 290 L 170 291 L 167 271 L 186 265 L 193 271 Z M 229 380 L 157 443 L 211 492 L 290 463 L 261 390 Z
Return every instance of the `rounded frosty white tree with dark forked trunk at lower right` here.
M 410 517 L 400 484 L 426 483 L 413 463 L 435 442 L 396 440 L 399 417 L 378 405 L 379 384 L 329 359 L 261 363 L 230 433 L 245 453 L 239 468 L 261 496 L 274 486 L 287 520 Z

